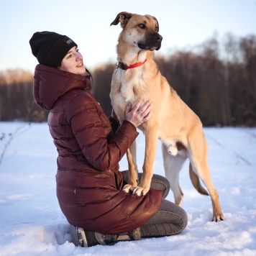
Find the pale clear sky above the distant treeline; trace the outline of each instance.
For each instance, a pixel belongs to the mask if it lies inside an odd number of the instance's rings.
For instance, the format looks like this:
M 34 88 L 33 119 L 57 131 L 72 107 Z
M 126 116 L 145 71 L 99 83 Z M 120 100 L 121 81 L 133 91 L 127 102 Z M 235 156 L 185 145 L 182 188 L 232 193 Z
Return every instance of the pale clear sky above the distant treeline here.
M 1 0 L 0 71 L 34 72 L 37 59 L 29 39 L 38 31 L 67 35 L 78 44 L 88 68 L 116 61 L 119 12 L 151 14 L 160 24 L 159 54 L 188 49 L 227 33 L 256 34 L 256 0 Z M 158 54 L 157 52 L 157 54 Z

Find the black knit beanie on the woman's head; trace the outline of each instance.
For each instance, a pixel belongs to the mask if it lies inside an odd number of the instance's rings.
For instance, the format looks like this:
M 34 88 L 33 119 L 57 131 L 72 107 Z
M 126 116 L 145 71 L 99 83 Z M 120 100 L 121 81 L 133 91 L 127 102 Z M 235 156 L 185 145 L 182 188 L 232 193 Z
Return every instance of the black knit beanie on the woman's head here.
M 72 47 L 78 46 L 66 35 L 48 31 L 35 32 L 29 40 L 29 44 L 38 62 L 52 68 L 60 67 L 61 60 L 68 51 Z

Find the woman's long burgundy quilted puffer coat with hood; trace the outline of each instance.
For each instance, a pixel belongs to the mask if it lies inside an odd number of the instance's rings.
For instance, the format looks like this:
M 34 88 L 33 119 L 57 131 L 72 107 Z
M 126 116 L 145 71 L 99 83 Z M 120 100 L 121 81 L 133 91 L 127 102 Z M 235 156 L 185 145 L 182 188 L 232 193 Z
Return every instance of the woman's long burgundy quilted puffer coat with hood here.
M 122 191 L 119 161 L 137 137 L 133 124 L 112 132 L 84 76 L 45 65 L 35 68 L 34 97 L 50 111 L 50 134 L 58 151 L 57 196 L 70 224 L 119 234 L 145 224 L 160 206 L 162 191 L 146 196 Z

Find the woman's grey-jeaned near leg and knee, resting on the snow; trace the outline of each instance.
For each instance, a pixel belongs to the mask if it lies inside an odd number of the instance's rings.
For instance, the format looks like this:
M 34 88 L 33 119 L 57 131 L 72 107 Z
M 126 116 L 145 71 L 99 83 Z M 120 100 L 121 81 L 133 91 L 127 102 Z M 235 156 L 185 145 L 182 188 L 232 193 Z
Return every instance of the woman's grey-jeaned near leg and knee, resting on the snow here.
M 180 206 L 165 199 L 152 218 L 140 229 L 142 237 L 165 237 L 178 234 L 185 229 L 188 216 Z

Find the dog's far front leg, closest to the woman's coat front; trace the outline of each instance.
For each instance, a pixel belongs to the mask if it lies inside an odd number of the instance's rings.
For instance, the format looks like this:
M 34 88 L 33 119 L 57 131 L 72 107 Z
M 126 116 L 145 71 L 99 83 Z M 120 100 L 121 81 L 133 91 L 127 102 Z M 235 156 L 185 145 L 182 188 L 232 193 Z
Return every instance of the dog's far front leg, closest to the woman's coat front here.
M 137 178 L 138 178 L 138 168 L 137 168 L 137 158 L 136 158 L 136 140 L 127 150 L 127 160 L 129 166 L 129 183 L 124 186 L 123 191 L 129 193 L 137 187 Z

